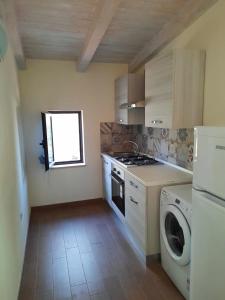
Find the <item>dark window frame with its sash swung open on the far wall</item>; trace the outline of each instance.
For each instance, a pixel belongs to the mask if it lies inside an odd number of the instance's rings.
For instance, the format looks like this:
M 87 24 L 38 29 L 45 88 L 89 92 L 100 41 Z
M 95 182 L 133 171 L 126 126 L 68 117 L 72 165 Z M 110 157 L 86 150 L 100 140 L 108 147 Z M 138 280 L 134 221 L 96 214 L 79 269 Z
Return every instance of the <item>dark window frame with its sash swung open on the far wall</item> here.
M 45 170 L 48 171 L 50 168 L 54 169 L 63 166 L 79 166 L 84 165 L 84 131 L 83 131 L 83 111 L 82 110 L 49 110 L 47 112 L 42 112 L 42 130 L 43 130 L 43 148 L 45 156 Z M 47 126 L 46 126 L 46 115 L 47 114 L 77 114 L 78 115 L 78 125 L 79 125 L 79 149 L 80 149 L 80 159 L 79 160 L 68 160 L 68 161 L 54 161 L 54 136 L 52 128 L 52 118 L 50 116 L 51 124 L 51 139 L 52 139 L 52 152 L 53 152 L 53 162 L 49 162 L 49 151 L 48 151 L 48 136 L 47 136 Z

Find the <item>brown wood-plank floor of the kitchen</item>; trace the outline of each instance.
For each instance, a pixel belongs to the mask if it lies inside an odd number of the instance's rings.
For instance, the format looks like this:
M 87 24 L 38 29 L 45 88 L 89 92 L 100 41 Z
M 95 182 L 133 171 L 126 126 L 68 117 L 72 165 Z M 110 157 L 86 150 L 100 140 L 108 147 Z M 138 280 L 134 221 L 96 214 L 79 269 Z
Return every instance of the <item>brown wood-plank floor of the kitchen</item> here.
M 33 211 L 19 300 L 183 299 L 157 263 L 145 268 L 104 204 Z

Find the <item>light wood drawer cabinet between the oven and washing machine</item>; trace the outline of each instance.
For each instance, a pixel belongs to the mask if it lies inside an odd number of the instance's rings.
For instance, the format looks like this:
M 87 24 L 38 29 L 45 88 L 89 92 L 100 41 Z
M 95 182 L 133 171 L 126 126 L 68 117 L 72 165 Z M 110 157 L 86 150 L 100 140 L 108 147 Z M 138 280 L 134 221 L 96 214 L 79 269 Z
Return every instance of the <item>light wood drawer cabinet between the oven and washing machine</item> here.
M 125 224 L 130 239 L 146 262 L 158 258 L 160 253 L 160 192 L 161 186 L 145 187 L 125 174 Z

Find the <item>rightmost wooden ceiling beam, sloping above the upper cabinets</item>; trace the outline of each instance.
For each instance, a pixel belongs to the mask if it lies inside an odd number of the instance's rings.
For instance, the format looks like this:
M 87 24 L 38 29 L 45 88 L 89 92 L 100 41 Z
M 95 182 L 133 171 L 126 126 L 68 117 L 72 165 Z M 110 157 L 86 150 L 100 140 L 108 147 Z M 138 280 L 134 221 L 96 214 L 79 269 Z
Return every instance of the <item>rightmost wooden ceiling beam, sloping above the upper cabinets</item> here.
M 129 72 L 135 72 L 163 47 L 181 34 L 191 23 L 200 17 L 218 0 L 188 0 L 173 16 L 172 20 L 144 46 L 129 64 Z

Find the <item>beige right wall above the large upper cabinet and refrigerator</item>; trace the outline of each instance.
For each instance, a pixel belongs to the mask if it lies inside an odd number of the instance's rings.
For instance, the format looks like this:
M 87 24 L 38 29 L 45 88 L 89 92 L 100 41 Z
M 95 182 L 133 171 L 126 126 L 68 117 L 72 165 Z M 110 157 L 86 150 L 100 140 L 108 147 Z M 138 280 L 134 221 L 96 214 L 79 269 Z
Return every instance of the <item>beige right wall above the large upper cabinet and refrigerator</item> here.
M 167 48 L 206 50 L 204 125 L 225 126 L 225 1 L 220 0 Z

